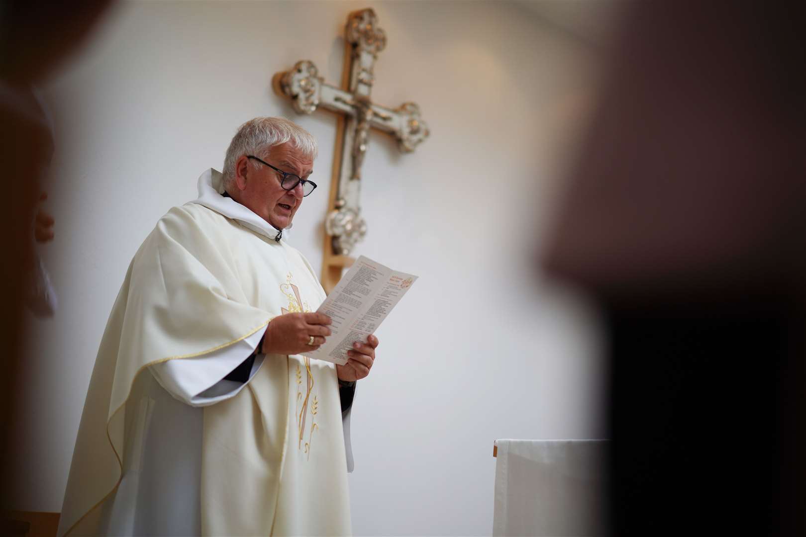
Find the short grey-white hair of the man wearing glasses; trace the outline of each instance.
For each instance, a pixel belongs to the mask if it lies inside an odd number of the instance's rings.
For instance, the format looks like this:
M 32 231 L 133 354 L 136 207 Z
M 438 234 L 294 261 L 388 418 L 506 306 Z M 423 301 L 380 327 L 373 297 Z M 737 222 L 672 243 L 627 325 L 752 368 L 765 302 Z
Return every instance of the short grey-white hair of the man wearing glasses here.
M 287 142 L 301 151 L 305 157 L 316 159 L 318 153 L 316 139 L 310 132 L 288 119 L 254 118 L 239 126 L 224 157 L 222 172 L 224 187 L 229 188 L 235 181 L 235 164 L 242 156 L 255 155 L 265 159 L 272 147 Z M 252 162 L 252 166 L 258 169 L 260 163 Z

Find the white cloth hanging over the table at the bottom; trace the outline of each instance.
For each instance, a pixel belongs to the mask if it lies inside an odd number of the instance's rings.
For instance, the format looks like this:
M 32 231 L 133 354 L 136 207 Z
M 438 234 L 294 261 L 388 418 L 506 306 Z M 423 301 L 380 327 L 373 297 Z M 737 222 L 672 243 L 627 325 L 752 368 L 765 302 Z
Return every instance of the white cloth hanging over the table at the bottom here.
M 496 440 L 492 535 L 604 535 L 606 440 Z

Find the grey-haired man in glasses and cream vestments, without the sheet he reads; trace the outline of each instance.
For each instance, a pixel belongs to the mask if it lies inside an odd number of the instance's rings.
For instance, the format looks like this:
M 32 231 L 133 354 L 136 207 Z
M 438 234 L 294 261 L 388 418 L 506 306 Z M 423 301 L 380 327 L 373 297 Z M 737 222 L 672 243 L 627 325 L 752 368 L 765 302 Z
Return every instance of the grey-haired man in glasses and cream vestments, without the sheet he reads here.
M 347 535 L 345 366 L 304 357 L 325 298 L 286 229 L 316 184 L 314 138 L 281 118 L 235 134 L 223 173 L 140 246 L 106 326 L 60 535 Z

